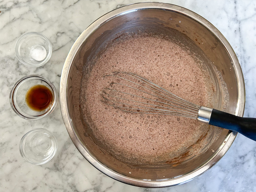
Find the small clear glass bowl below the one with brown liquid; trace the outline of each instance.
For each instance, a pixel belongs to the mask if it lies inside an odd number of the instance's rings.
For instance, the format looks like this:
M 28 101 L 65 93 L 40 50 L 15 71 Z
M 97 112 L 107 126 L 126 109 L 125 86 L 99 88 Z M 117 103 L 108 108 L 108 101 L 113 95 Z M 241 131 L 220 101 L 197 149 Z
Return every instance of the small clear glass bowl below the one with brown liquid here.
M 20 140 L 21 156 L 34 165 L 42 165 L 50 161 L 57 148 L 55 136 L 43 128 L 31 129 Z

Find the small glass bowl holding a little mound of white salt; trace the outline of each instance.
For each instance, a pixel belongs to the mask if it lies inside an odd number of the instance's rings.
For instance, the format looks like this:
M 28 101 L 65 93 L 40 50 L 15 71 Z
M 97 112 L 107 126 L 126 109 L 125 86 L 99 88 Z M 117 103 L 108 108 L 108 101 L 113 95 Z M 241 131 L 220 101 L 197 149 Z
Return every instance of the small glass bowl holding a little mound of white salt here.
M 31 54 L 32 50 L 36 50 L 36 52 Z M 52 55 L 52 45 L 43 34 L 29 32 L 21 35 L 17 40 L 15 44 L 15 53 L 19 61 L 24 65 L 39 67 L 49 61 Z M 44 54 L 46 55 L 45 58 L 42 57 Z M 39 59 L 36 60 L 35 58 Z

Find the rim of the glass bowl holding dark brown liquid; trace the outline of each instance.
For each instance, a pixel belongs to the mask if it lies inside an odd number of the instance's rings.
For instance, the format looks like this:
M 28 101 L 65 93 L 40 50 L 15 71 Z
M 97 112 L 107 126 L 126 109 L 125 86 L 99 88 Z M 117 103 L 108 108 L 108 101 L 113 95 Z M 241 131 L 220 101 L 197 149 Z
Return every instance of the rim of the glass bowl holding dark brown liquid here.
M 53 94 L 54 94 L 54 100 L 53 100 L 53 104 L 51 106 L 51 108 L 44 114 L 42 115 L 39 115 L 39 116 L 34 116 L 34 117 L 28 117 L 28 116 L 25 116 L 25 115 L 22 115 L 19 110 L 15 107 L 15 104 L 14 104 L 14 93 L 15 93 L 15 90 L 17 88 L 17 86 L 22 83 L 23 81 L 29 79 L 29 78 L 32 78 L 32 77 L 36 77 L 37 79 L 41 79 L 43 81 L 45 81 L 50 87 L 51 89 L 53 90 Z M 26 119 L 26 120 L 38 120 L 38 119 L 42 119 L 46 116 L 48 116 L 50 113 L 53 112 L 53 110 L 55 109 L 55 107 L 57 106 L 57 102 L 58 102 L 58 92 L 57 92 L 57 89 L 56 87 L 54 86 L 54 84 L 49 81 L 47 78 L 41 76 L 41 75 L 26 75 L 22 78 L 20 78 L 13 86 L 12 86 L 12 89 L 11 89 L 11 92 L 10 92 L 10 104 L 11 104 L 11 107 L 13 109 L 13 111 L 18 115 L 20 116 L 21 118 L 23 119 Z

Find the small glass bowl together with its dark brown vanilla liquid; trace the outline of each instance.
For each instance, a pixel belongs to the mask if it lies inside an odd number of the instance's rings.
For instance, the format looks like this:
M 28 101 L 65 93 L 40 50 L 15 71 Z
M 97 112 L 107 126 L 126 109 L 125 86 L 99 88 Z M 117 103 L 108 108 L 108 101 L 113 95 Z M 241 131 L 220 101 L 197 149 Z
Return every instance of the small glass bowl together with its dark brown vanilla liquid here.
M 23 119 L 36 120 L 49 115 L 56 107 L 58 93 L 55 86 L 40 75 L 19 79 L 10 92 L 10 104 Z

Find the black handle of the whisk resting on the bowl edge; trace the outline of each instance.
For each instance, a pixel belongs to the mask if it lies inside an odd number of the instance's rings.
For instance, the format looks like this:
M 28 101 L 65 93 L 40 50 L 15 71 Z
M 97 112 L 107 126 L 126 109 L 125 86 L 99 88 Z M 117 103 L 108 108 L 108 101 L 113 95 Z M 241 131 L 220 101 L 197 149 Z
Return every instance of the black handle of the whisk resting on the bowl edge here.
M 256 141 L 256 118 L 238 117 L 213 109 L 209 125 L 236 131 Z

